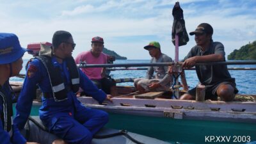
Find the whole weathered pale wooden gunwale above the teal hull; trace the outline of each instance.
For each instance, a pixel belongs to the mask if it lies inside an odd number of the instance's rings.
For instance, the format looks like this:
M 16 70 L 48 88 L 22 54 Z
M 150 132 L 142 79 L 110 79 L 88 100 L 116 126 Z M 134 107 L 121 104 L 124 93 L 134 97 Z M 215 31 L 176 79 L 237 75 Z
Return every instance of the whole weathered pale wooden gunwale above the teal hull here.
M 172 108 L 172 106 L 167 107 L 156 107 L 156 108 L 148 108 L 145 105 L 142 106 L 121 106 L 120 102 L 124 102 L 125 98 L 118 98 L 113 99 L 113 103 L 108 102 L 107 105 L 100 105 L 97 103 L 93 98 L 90 97 L 81 97 L 79 100 L 88 108 L 96 108 L 96 109 L 102 109 L 104 111 L 107 111 L 108 113 L 119 113 L 119 114 L 127 114 L 127 115 L 137 115 L 137 116 L 155 116 L 155 117 L 164 117 L 164 118 L 174 118 L 174 119 L 186 119 L 186 120 L 216 120 L 216 121 L 228 121 L 228 122 L 248 122 L 248 123 L 256 123 L 256 111 L 253 111 L 253 109 L 256 108 L 256 102 L 238 102 L 239 104 L 233 105 L 236 108 L 236 106 L 241 106 L 244 104 L 251 107 L 251 111 L 222 111 L 223 108 L 219 108 L 220 104 L 216 104 L 216 102 L 213 102 L 215 104 L 210 104 L 208 109 L 188 109 L 186 107 L 182 108 Z M 128 101 L 127 101 L 128 100 Z M 138 99 L 136 99 L 138 100 Z M 156 100 L 146 100 L 146 99 L 140 99 L 140 101 L 143 102 L 154 102 Z M 166 100 L 161 100 L 166 102 Z M 191 101 L 195 100 L 168 100 L 167 102 L 174 102 L 175 104 L 178 104 L 180 101 L 191 103 Z M 132 102 L 130 99 L 126 99 L 126 102 Z M 200 102 L 200 104 L 205 104 L 205 106 L 208 106 L 209 102 Z M 226 102 L 223 102 L 225 104 Z M 237 103 L 237 102 L 236 102 Z M 127 103 L 128 104 L 128 103 Z M 130 103 L 131 104 L 131 103 Z M 196 102 L 192 102 L 191 104 L 196 104 Z M 223 105 L 221 104 L 221 105 Z M 191 106 L 191 105 L 190 105 Z M 204 107 L 207 108 L 207 107 Z M 212 109 L 218 109 L 212 110 Z M 236 108 L 239 109 L 239 108 Z

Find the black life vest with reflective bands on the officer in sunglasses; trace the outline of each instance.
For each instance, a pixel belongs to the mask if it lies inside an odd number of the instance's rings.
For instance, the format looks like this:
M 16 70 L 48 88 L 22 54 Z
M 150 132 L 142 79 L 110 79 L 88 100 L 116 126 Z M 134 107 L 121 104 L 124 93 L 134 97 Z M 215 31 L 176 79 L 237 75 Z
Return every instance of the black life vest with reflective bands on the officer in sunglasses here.
M 51 87 L 52 87 L 52 96 L 56 102 L 67 99 L 67 92 L 69 88 L 65 87 L 63 83 L 63 78 L 61 77 L 61 70 L 59 67 L 54 67 L 52 65 L 52 58 L 50 56 L 36 56 L 36 58 L 44 64 L 44 67 L 47 70 L 47 74 L 50 79 Z M 70 74 L 71 83 L 70 89 L 73 92 L 77 92 L 79 90 L 79 72 L 77 70 L 77 66 L 74 58 L 65 58 L 67 63 L 68 72 Z

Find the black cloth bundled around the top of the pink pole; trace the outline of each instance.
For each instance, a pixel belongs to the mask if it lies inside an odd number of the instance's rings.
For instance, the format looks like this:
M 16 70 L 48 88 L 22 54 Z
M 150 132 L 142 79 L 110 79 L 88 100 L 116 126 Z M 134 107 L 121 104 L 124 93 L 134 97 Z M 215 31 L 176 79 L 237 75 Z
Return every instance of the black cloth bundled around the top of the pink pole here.
M 186 45 L 189 41 L 188 33 L 185 27 L 183 10 L 180 8 L 179 2 L 175 3 L 172 10 L 173 25 L 172 25 L 172 42 L 175 45 L 175 35 L 179 36 L 179 46 Z

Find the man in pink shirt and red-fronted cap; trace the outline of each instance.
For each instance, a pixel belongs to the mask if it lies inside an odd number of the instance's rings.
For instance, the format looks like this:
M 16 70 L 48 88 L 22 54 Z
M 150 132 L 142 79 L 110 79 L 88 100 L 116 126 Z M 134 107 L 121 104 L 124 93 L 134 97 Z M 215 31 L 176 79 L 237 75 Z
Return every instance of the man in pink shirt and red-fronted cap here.
M 100 36 L 92 38 L 92 49 L 90 51 L 81 52 L 76 57 L 76 63 L 85 62 L 87 64 L 106 64 L 108 55 L 103 51 L 104 40 Z M 93 81 L 93 83 L 107 94 L 116 96 L 116 84 L 105 75 L 105 68 L 81 68 L 81 70 Z M 79 94 L 78 94 L 79 95 Z

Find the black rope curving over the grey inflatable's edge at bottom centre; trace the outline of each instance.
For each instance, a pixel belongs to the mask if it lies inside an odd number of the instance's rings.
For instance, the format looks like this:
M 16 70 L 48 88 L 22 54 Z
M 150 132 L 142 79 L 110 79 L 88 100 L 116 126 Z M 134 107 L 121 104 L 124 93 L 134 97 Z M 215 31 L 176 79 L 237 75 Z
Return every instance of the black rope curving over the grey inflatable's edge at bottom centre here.
M 113 134 L 105 134 L 105 135 L 95 135 L 93 136 L 93 138 L 96 138 L 96 139 L 103 139 L 103 138 L 111 138 L 111 137 L 114 137 L 114 136 L 120 136 L 120 135 L 123 135 L 125 136 L 126 138 L 128 138 L 129 140 L 131 140 L 132 142 L 134 143 L 137 143 L 137 144 L 144 144 L 144 143 L 141 143 L 140 141 L 138 140 L 135 140 L 134 138 L 132 138 L 129 134 L 128 134 L 128 131 L 126 130 L 121 130 L 119 132 L 115 132 Z

